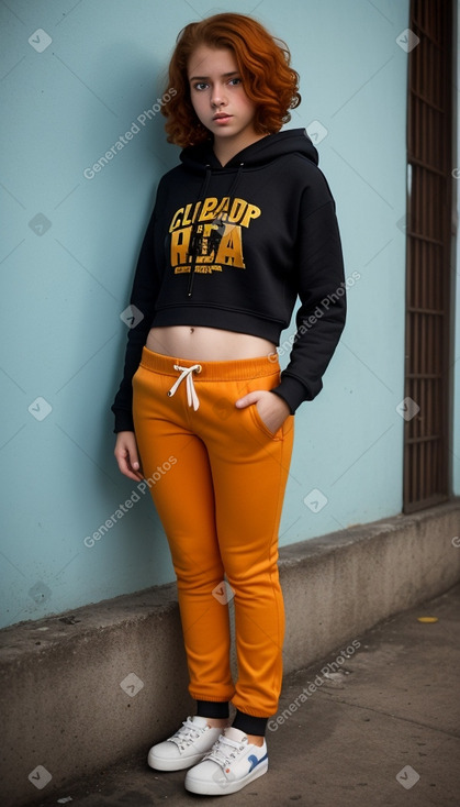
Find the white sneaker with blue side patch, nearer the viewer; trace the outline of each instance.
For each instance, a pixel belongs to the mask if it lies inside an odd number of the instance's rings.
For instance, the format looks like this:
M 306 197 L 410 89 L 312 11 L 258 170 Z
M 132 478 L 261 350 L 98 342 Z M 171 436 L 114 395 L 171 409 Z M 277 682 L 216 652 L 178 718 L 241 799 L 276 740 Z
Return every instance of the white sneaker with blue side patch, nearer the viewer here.
M 186 776 L 186 788 L 203 796 L 237 793 L 268 771 L 267 743 L 253 745 L 244 731 L 229 726 L 204 760 Z

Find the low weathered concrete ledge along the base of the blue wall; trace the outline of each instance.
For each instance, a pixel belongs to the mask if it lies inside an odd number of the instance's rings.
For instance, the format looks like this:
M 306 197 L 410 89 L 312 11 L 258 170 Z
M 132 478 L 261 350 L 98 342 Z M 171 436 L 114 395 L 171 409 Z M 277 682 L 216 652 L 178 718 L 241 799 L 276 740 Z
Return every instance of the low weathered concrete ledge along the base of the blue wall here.
M 459 534 L 456 499 L 282 548 L 285 674 L 453 586 Z M 173 584 L 7 628 L 0 648 L 3 807 L 147 750 L 193 711 Z

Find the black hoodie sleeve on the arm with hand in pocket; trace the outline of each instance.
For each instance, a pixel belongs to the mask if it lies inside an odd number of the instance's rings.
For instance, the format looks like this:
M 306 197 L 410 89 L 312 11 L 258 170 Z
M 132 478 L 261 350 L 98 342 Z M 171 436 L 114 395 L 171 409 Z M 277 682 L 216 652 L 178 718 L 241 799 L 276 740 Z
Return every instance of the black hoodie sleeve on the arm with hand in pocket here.
M 298 331 L 281 383 L 272 389 L 285 400 L 292 414 L 304 400 L 313 400 L 321 391 L 322 376 L 345 327 L 344 258 L 335 202 L 326 180 L 323 192 L 325 189 L 327 201 L 313 212 L 306 198 L 302 202 L 296 250 L 301 301 Z

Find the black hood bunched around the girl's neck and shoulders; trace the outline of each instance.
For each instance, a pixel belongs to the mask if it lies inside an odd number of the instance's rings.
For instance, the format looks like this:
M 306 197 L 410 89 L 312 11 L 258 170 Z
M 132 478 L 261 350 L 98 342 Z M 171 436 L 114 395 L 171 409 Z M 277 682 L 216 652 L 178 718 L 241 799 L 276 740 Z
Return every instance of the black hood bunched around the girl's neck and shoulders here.
M 288 129 L 284 132 L 262 137 L 235 154 L 225 166 L 222 166 L 215 156 L 211 140 L 195 146 L 188 146 L 181 152 L 180 159 L 188 170 L 203 174 L 206 168 L 228 170 L 242 165 L 245 168 L 258 167 L 287 154 L 300 154 L 307 157 L 314 165 L 318 164 L 318 153 L 305 129 Z

